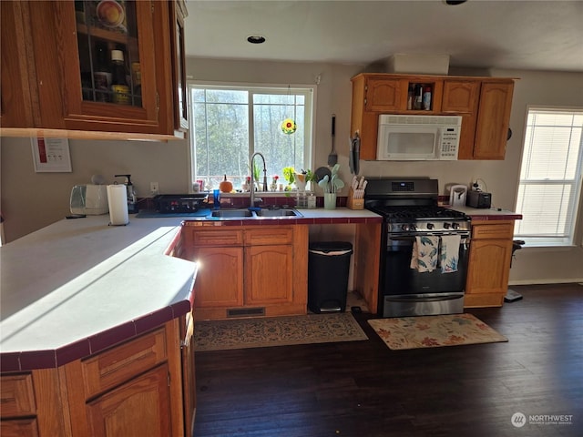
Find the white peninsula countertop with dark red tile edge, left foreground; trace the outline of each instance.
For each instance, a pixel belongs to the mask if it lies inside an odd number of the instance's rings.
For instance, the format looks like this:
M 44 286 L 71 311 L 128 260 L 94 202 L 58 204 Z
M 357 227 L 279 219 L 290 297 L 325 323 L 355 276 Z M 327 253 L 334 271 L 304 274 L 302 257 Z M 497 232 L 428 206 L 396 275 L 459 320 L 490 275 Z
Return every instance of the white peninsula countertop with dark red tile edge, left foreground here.
M 0 248 L 2 371 L 54 368 L 186 314 L 196 263 L 180 219 L 63 219 Z

